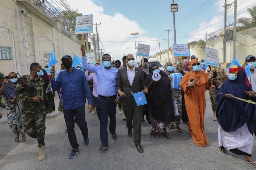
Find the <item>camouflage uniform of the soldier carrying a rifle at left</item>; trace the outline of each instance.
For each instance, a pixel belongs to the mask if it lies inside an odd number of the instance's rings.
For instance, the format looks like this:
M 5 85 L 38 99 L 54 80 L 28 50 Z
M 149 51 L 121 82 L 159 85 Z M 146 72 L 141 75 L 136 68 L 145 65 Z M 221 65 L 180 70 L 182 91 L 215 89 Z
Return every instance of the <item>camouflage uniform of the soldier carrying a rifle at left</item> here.
M 25 89 L 21 89 L 22 84 L 18 81 L 16 86 L 15 96 L 23 101 L 23 117 L 26 126 L 27 133 L 30 137 L 37 138 L 38 147 L 44 146 L 44 131 L 45 131 L 45 117 L 46 108 L 51 107 L 46 91 L 44 80 L 37 77 L 35 80 L 30 78 L 30 75 L 24 75 L 21 77 L 28 85 L 34 83 L 36 87 L 36 96 L 41 96 L 40 109 L 36 107 L 33 102 L 33 97 L 29 96 Z

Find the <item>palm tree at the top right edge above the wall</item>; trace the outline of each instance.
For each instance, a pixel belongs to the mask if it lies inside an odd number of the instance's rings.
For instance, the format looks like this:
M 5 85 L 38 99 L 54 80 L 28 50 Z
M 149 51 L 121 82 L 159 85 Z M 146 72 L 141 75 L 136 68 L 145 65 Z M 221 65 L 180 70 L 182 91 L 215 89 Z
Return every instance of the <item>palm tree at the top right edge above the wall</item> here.
M 238 23 L 242 24 L 243 29 L 248 29 L 256 26 L 256 6 L 252 7 L 251 9 L 247 9 L 250 17 L 242 17 L 238 19 Z

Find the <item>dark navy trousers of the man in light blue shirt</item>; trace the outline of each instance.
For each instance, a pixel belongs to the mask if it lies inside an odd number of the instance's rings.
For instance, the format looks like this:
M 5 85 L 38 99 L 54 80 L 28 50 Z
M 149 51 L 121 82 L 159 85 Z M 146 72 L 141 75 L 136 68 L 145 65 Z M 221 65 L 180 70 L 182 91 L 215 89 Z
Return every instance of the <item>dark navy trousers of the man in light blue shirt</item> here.
M 97 98 L 97 115 L 100 120 L 100 140 L 102 144 L 108 145 L 108 117 L 109 132 L 116 133 L 116 97 L 106 99 L 98 95 Z

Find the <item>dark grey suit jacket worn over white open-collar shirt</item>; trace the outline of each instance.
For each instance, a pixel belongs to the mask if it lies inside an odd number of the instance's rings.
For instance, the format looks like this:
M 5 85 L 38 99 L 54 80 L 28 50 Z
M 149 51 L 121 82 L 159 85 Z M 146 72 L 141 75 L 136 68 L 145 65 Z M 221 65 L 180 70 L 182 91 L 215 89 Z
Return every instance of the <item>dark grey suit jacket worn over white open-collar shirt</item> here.
M 134 66 L 135 67 L 135 66 Z M 141 70 L 138 67 L 135 67 L 135 76 L 132 82 L 132 85 L 130 84 L 127 76 L 127 68 L 124 67 L 122 69 L 119 69 L 117 72 L 117 85 L 116 89 L 117 92 L 121 90 L 126 95 L 141 92 L 142 90 L 145 90 L 147 86 L 144 83 L 144 74 L 143 70 Z M 122 104 L 130 105 L 132 101 L 132 95 L 129 95 L 127 97 L 122 97 Z

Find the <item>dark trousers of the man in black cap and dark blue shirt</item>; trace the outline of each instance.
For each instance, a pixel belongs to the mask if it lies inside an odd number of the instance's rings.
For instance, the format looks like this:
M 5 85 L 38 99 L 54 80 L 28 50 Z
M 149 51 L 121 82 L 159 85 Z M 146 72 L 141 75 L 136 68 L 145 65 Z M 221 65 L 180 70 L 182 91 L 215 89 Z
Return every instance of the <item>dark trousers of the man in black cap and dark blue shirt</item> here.
M 74 117 L 76 116 L 76 124 L 82 131 L 82 135 L 84 139 L 88 137 L 88 128 L 87 122 L 85 121 L 85 111 L 84 106 L 78 107 L 72 110 L 65 110 L 63 109 L 64 119 L 66 122 L 66 126 L 68 129 L 68 139 L 69 143 L 73 149 L 78 149 L 79 144 L 76 141 L 76 133 L 75 133 L 75 122 Z

